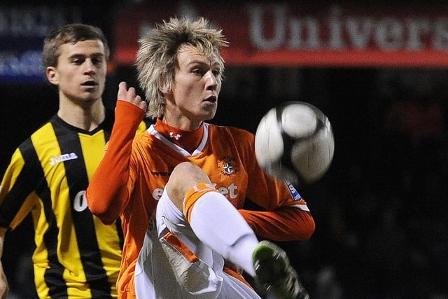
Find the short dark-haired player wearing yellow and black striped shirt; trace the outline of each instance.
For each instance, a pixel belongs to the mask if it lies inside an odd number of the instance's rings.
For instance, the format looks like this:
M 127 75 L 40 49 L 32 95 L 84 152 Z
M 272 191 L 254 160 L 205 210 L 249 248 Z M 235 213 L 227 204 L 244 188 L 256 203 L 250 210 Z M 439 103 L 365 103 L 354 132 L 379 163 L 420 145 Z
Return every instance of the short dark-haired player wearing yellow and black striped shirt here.
M 66 25 L 45 39 L 43 67 L 57 86 L 59 110 L 18 146 L 1 181 L 0 254 L 6 230 L 31 214 L 40 298 L 117 297 L 120 221 L 104 225 L 85 200 L 114 121 L 102 102 L 108 59 L 106 38 L 97 27 Z M 8 283 L 2 267 L 0 277 L 3 298 Z

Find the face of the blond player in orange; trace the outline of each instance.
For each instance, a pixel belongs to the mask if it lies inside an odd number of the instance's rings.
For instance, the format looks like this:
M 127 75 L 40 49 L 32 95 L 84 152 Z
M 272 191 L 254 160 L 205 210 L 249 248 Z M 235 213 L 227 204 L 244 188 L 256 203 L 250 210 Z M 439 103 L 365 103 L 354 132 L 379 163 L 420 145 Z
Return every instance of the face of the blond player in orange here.
M 167 95 L 167 113 L 183 119 L 178 127 L 196 129 L 215 116 L 221 91 L 222 69 L 218 57 L 205 57 L 193 46 L 182 46 L 179 69 L 174 75 L 172 92 Z M 169 115 L 166 115 L 169 121 Z

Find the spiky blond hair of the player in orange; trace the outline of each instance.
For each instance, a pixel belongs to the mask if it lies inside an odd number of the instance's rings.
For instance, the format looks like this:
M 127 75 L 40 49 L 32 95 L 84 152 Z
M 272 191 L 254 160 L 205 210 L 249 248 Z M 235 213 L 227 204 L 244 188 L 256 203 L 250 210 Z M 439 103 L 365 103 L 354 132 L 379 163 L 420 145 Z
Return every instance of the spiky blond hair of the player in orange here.
M 145 92 L 147 115 L 151 118 L 161 117 L 165 111 L 165 99 L 160 86 L 171 88 L 178 67 L 177 53 L 180 46 L 194 46 L 206 57 L 216 55 L 222 71 L 224 60 L 219 50 L 228 46 L 222 29 L 212 27 L 205 18 L 193 20 L 188 17 L 170 18 L 169 22 L 164 20 L 151 29 L 147 36 L 139 39 L 139 44 L 137 79 Z

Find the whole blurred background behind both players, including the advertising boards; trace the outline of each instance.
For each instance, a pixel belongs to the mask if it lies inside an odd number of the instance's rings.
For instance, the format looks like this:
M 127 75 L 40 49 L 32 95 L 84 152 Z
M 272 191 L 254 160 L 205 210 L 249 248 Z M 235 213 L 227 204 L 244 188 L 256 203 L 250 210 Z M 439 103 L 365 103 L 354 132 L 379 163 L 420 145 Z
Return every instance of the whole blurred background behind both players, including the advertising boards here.
M 170 16 L 209 18 L 230 41 L 216 118 L 255 132 L 273 106 L 304 101 L 335 134 L 327 174 L 300 186 L 316 221 L 285 242 L 311 298 L 448 298 L 447 1 L 8 1 L 0 4 L 0 174 L 57 111 L 40 65 L 44 36 L 101 27 L 104 94 L 137 87 L 137 40 Z M 32 223 L 6 235 L 10 298 L 35 298 Z

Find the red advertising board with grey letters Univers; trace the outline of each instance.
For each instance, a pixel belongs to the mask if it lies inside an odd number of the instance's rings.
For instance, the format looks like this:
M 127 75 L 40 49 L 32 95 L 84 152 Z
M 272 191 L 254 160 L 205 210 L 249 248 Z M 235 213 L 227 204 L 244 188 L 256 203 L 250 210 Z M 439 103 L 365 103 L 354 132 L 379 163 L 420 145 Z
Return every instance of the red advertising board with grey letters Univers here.
M 223 29 L 230 65 L 448 67 L 447 5 L 370 2 L 152 1 L 118 11 L 114 61 L 133 64 L 155 23 L 193 15 Z

